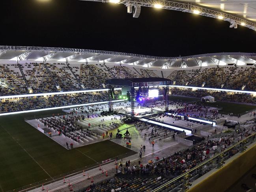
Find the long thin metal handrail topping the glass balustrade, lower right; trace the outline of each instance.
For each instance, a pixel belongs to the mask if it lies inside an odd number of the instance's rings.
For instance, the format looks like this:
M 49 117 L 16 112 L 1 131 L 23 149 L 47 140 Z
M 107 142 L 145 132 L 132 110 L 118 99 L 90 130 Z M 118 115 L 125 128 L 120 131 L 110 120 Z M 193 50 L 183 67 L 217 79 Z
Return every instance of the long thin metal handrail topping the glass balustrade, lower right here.
M 217 154 L 214 155 L 213 157 L 211 157 L 211 158 L 205 160 L 204 162 L 202 162 L 202 163 L 200 163 L 199 165 L 195 166 L 195 167 L 192 168 L 191 170 L 186 171 L 185 173 L 179 175 L 178 177 L 172 179 L 171 181 L 165 183 L 164 185 L 159 186 L 158 188 L 156 188 L 155 190 L 153 190 L 153 192 L 156 192 L 156 191 L 160 190 L 161 188 L 165 187 L 166 185 L 169 185 L 169 184 L 173 183 L 174 181 L 177 181 L 178 179 L 181 179 L 182 177 L 184 177 L 185 175 L 187 175 L 189 172 L 194 171 L 194 170 L 200 168 L 201 166 L 205 165 L 206 163 L 210 162 L 211 160 L 214 160 L 214 159 L 215 159 L 216 157 L 218 157 L 219 155 L 221 155 L 221 154 L 223 154 L 223 153 L 225 153 L 225 152 L 228 152 L 230 149 L 236 147 L 237 145 L 240 145 L 241 143 L 243 143 L 244 141 L 246 141 L 248 138 L 250 138 L 250 137 L 252 137 L 252 136 L 255 136 L 255 135 L 256 135 L 256 132 L 253 133 L 253 134 L 251 134 L 251 135 L 249 135 L 247 138 L 244 138 L 243 140 L 237 142 L 236 144 L 232 145 L 231 147 L 228 147 L 228 148 L 225 149 L 224 151 L 221 151 L 220 153 L 217 153 Z

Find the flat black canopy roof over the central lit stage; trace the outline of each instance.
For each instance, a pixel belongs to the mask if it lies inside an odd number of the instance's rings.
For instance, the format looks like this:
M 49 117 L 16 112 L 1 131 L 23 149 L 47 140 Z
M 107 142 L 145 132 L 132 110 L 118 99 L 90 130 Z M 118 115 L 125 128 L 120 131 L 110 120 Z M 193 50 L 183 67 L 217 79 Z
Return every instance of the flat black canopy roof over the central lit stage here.
M 161 77 L 125 78 L 125 79 L 116 78 L 116 79 L 107 79 L 106 84 L 133 87 L 135 86 L 136 83 L 163 82 L 163 81 L 171 81 L 171 80 L 166 78 L 161 78 Z M 149 86 L 149 84 L 145 86 Z

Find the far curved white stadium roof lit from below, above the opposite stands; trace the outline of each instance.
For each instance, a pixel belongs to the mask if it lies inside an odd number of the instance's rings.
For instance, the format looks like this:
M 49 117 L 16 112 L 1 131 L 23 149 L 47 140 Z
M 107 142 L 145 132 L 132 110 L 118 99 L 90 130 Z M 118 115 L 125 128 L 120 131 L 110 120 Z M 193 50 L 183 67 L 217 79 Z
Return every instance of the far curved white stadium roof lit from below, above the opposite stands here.
M 0 46 L 0 63 L 15 63 L 17 60 L 21 63 L 115 63 L 171 69 L 214 65 L 256 65 L 256 53 L 212 53 L 185 57 L 157 57 L 75 48 Z

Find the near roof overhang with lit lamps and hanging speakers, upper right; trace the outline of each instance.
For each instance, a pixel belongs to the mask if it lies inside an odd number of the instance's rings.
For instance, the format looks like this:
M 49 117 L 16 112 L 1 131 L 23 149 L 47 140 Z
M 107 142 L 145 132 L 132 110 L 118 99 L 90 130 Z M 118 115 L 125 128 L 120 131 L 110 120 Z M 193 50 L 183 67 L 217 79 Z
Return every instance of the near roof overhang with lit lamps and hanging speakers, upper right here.
M 213 17 L 230 22 L 230 27 L 237 25 L 256 30 L 255 0 L 83 0 L 96 2 L 112 2 L 124 4 L 128 13 L 139 17 L 140 7 L 170 9 L 198 15 Z

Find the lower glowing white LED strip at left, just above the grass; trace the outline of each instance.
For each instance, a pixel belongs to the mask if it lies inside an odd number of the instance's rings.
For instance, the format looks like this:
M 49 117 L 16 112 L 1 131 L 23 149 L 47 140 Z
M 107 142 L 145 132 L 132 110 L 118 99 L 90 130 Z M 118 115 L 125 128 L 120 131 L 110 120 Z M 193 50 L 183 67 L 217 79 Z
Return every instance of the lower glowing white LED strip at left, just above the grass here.
M 120 100 L 114 100 L 112 102 L 119 102 L 119 101 L 126 101 L 126 100 L 125 99 L 120 99 Z M 46 110 L 53 110 L 53 109 L 80 107 L 80 106 L 86 106 L 86 105 L 92 105 L 92 104 L 94 104 L 94 105 L 95 104 L 106 104 L 106 103 L 108 103 L 108 101 L 102 101 L 102 102 L 97 102 L 97 103 L 75 104 L 75 105 L 68 105 L 68 106 L 43 108 L 43 109 L 34 109 L 34 110 L 27 110 L 27 111 L 17 111 L 17 112 L 2 113 L 2 114 L 0 114 L 0 116 L 21 114 L 21 113 L 29 113 L 29 112 L 37 112 L 37 111 L 46 111 Z

